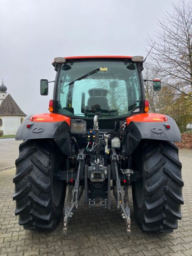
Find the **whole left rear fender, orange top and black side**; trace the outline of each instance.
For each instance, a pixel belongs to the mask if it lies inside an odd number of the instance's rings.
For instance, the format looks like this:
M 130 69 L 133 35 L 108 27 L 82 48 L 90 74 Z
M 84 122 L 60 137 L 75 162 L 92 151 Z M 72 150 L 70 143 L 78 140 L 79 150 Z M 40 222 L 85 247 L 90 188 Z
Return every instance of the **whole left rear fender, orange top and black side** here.
M 70 154 L 70 118 L 54 113 L 28 116 L 17 130 L 15 139 L 53 139 L 63 154 Z

